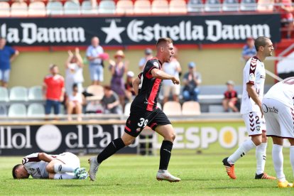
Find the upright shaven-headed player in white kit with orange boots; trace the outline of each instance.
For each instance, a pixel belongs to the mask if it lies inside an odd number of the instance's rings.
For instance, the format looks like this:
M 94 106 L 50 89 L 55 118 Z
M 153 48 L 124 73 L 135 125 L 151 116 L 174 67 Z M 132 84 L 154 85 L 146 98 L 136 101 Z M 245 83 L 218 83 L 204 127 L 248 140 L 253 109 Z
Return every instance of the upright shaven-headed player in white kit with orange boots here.
M 267 138 L 266 125 L 261 109 L 264 81 L 266 79 L 263 61 L 266 57 L 272 55 L 273 43 L 269 38 L 261 36 L 256 38 L 254 45 L 257 51 L 256 55 L 246 62 L 243 71 L 243 94 L 240 111 L 251 139 L 244 141 L 231 156 L 222 160 L 227 174 L 232 179 L 236 179 L 234 164 L 252 148 L 256 148 L 255 179 L 276 179 L 264 173 Z

